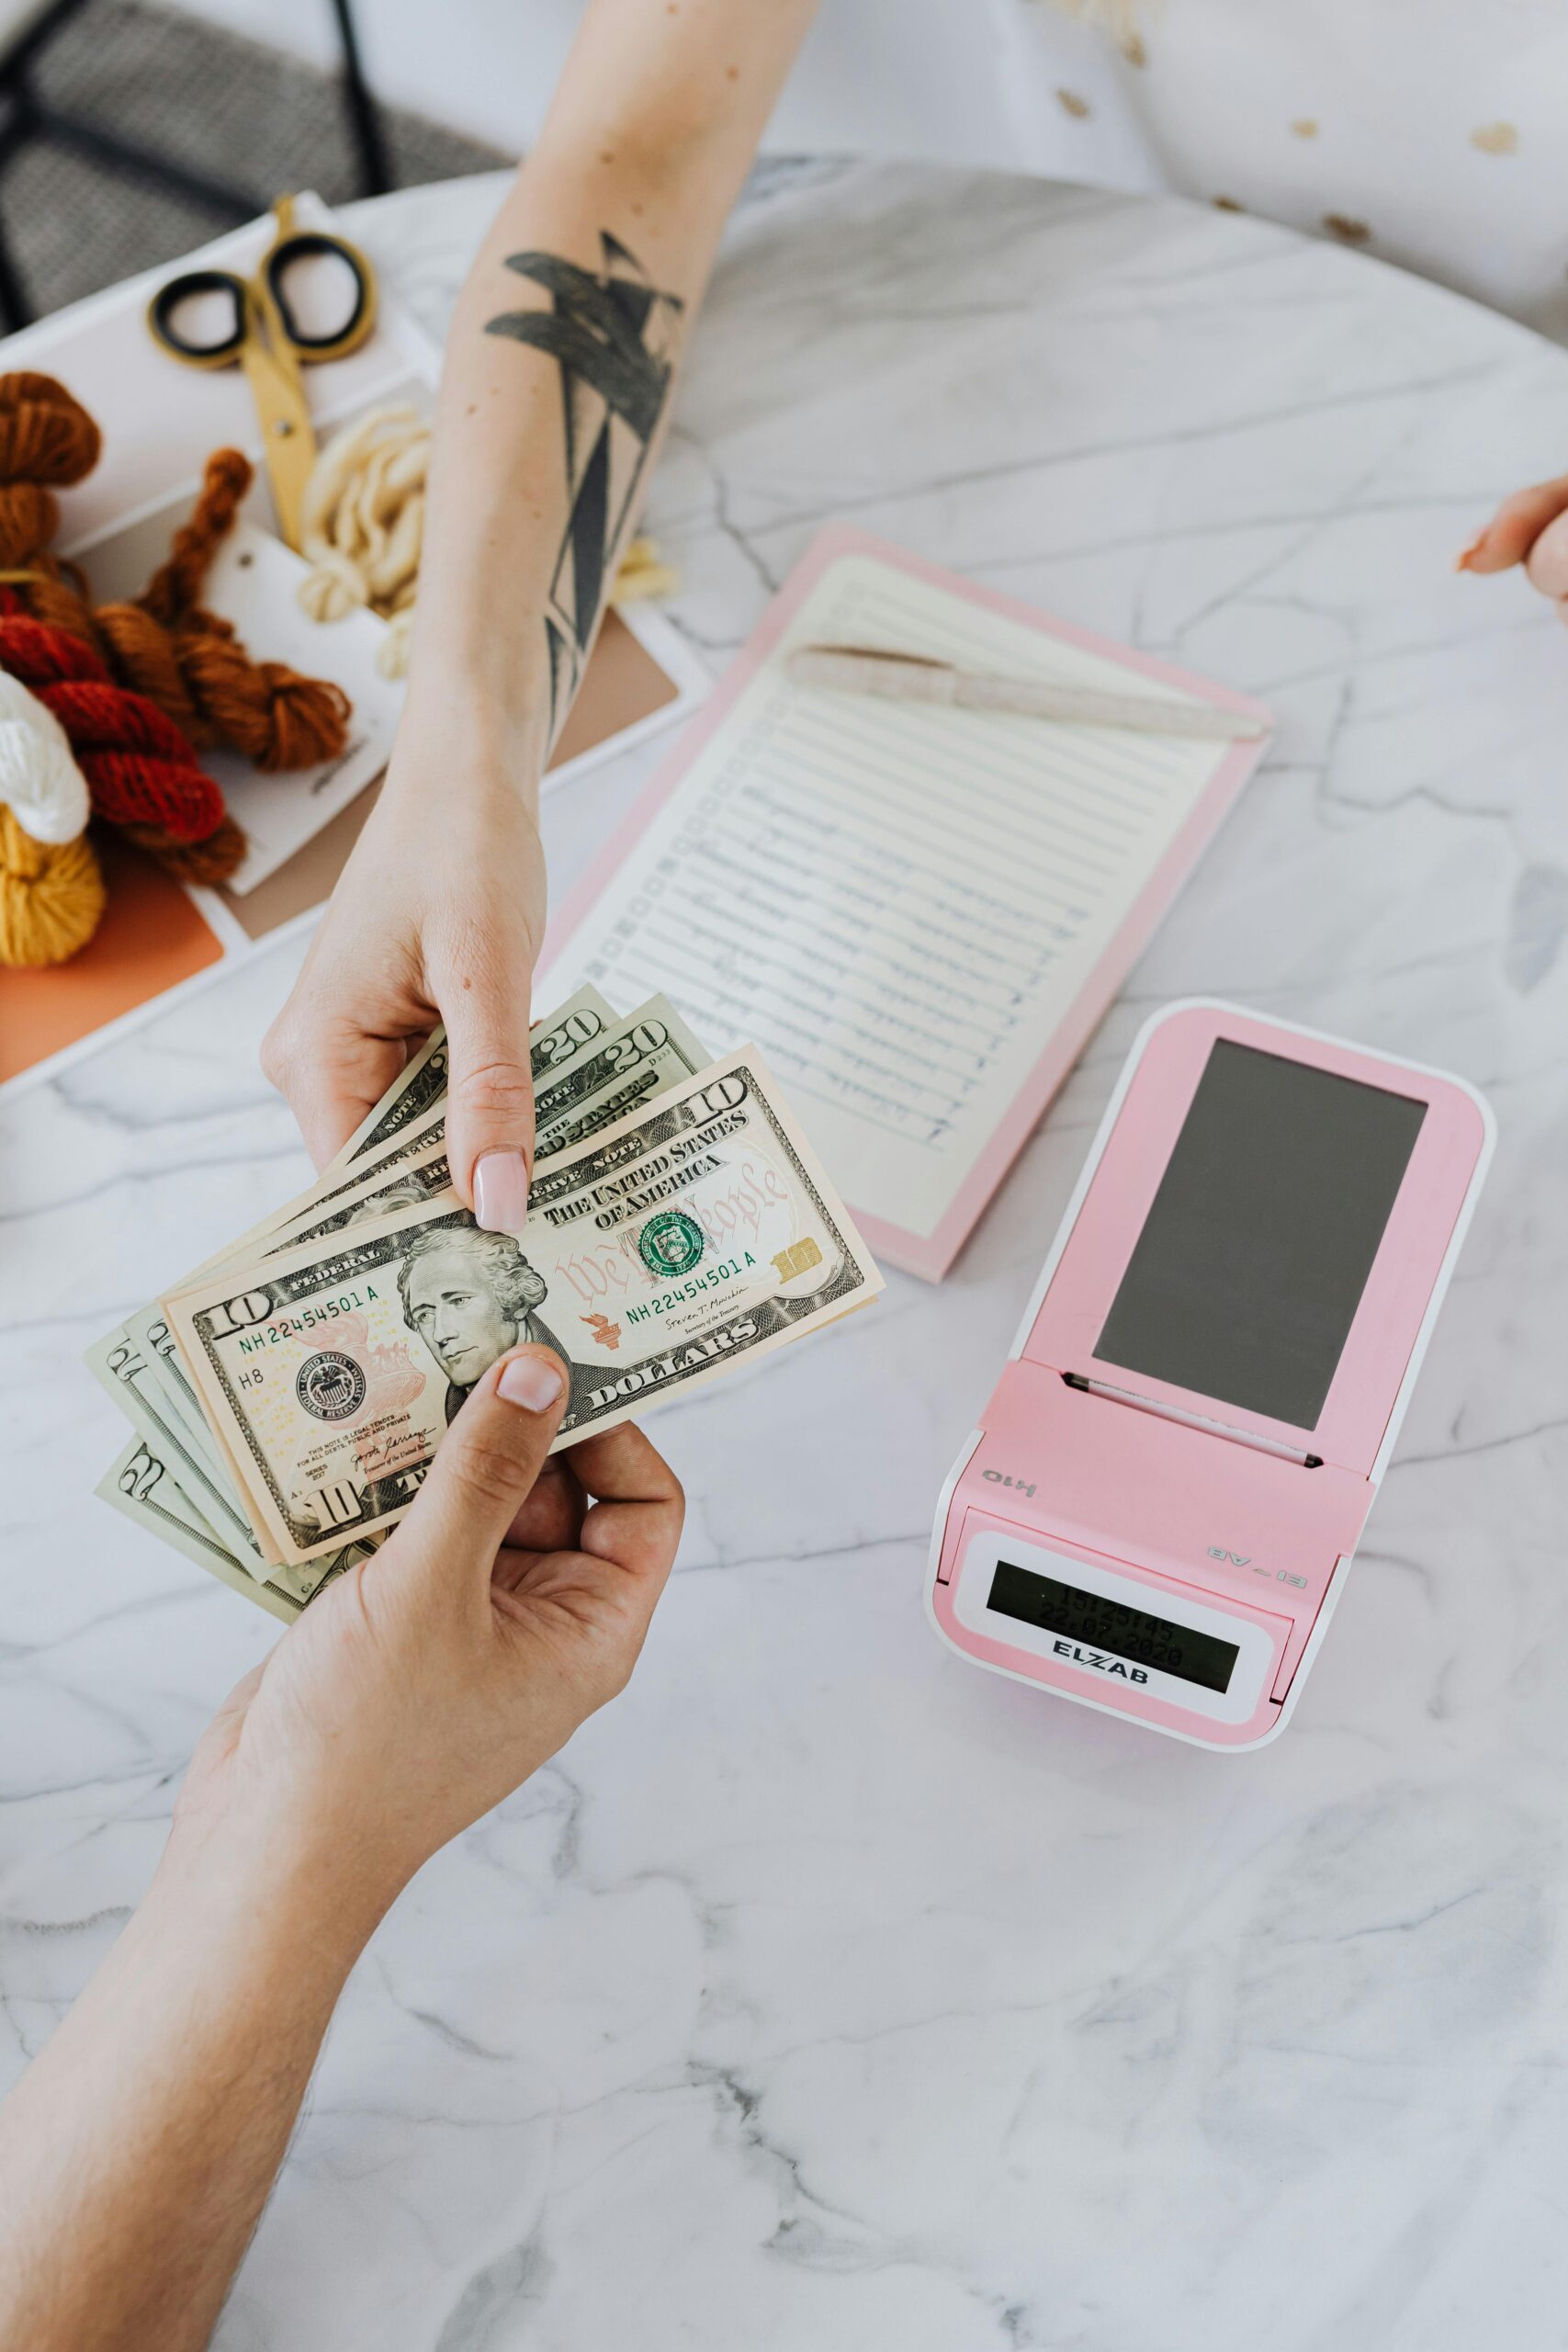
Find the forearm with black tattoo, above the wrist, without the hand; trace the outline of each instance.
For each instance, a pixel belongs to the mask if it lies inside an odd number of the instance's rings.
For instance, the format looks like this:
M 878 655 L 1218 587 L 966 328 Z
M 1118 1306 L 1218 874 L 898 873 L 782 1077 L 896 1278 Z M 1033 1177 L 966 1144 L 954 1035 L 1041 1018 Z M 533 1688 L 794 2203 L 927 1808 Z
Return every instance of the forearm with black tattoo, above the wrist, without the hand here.
M 719 228 L 811 12 L 585 9 L 447 346 L 402 729 L 430 771 L 501 767 L 534 795 L 637 524 Z

